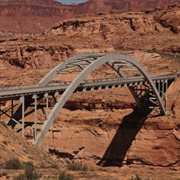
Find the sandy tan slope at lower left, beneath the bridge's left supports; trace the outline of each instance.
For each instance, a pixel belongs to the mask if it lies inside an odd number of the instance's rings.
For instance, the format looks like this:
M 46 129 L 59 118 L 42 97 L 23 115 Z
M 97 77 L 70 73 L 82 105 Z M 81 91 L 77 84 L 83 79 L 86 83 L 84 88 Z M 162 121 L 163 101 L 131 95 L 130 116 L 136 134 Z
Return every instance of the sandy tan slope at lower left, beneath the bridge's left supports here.
M 20 135 L 19 135 L 20 136 Z M 51 167 L 56 163 L 47 152 L 34 147 L 10 130 L 4 122 L 0 123 L 0 169 L 13 158 L 21 162 L 32 162 L 35 166 Z

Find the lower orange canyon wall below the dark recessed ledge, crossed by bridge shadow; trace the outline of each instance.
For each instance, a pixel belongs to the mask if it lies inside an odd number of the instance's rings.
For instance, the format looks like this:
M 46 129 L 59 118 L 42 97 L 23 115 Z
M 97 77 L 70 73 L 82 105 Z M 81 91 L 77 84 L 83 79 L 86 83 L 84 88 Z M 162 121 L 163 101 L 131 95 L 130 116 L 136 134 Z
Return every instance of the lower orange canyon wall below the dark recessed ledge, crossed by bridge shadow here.
M 171 118 L 150 118 L 144 122 L 141 117 L 132 116 L 130 110 L 128 112 L 123 117 L 118 110 L 76 110 L 68 116 L 69 111 L 64 110 L 42 147 L 51 153 L 55 150 L 58 157 L 74 162 L 178 168 L 180 131 L 175 129 L 178 124 Z

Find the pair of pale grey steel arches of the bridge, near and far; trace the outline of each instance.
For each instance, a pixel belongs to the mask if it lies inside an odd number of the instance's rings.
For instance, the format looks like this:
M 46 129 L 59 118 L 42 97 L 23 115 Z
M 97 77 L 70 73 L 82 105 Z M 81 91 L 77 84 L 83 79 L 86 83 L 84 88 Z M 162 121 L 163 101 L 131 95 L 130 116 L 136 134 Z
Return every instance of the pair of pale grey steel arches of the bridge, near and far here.
M 48 73 L 37 85 L 39 86 L 46 86 L 52 78 L 57 74 L 57 71 L 60 70 L 61 68 L 67 67 L 69 63 L 74 63 L 77 59 L 81 58 L 86 58 L 90 57 L 93 60 L 88 61 L 89 64 L 83 69 L 82 71 L 78 74 L 78 76 L 70 83 L 68 88 L 64 91 L 64 93 L 61 95 L 61 97 L 57 100 L 57 103 L 51 110 L 51 113 L 48 115 L 47 120 L 44 122 L 42 131 L 41 133 L 37 136 L 37 139 L 35 141 L 35 144 L 37 146 L 41 146 L 42 141 L 47 134 L 48 130 L 50 129 L 51 125 L 53 124 L 56 116 L 59 114 L 60 110 L 63 108 L 64 104 L 67 102 L 67 100 L 70 98 L 70 96 L 74 93 L 76 88 L 81 84 L 81 82 L 87 77 L 92 71 L 94 71 L 97 67 L 99 67 L 102 64 L 108 64 L 110 67 L 112 67 L 122 78 L 126 79 L 126 75 L 121 69 L 121 66 L 118 66 L 118 63 L 129 63 L 133 67 L 137 68 L 144 76 L 145 80 L 148 82 L 150 85 L 152 92 L 158 102 L 161 114 L 165 114 L 165 108 L 163 106 L 162 99 L 159 95 L 158 90 L 156 89 L 155 84 L 153 83 L 152 79 L 146 72 L 146 70 L 141 66 L 139 62 L 137 62 L 134 58 L 128 56 L 128 55 L 123 55 L 123 54 L 110 54 L 106 56 L 102 55 L 84 55 L 84 56 L 77 56 L 74 58 L 70 58 L 69 60 L 63 62 L 62 64 L 56 66 L 50 73 Z M 69 67 L 69 66 L 68 66 Z M 132 92 L 132 91 L 131 91 Z M 132 93 L 133 94 L 133 93 Z M 134 94 L 133 94 L 134 96 Z

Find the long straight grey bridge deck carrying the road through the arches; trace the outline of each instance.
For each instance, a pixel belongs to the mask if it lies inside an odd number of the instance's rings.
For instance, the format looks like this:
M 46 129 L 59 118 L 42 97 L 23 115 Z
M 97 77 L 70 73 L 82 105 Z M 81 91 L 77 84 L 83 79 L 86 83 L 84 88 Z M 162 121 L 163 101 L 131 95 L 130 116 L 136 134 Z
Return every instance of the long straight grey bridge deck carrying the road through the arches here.
M 180 73 L 179 73 L 180 75 Z M 160 75 L 160 76 L 151 76 L 151 79 L 156 81 L 161 80 L 174 80 L 177 77 L 177 74 L 169 74 L 169 75 Z M 123 78 L 114 78 L 114 79 L 96 79 L 96 80 L 88 80 L 83 81 L 76 91 L 83 91 L 87 88 L 102 88 L 103 86 L 130 86 L 134 83 L 140 84 L 145 83 L 145 78 L 140 77 L 131 77 L 127 79 Z M 63 93 L 66 88 L 69 86 L 70 82 L 64 82 L 60 84 L 52 84 L 46 87 L 35 87 L 35 86 L 25 86 L 25 87 L 6 87 L 0 89 L 0 100 L 8 100 L 8 99 L 16 99 L 21 96 L 28 96 L 28 95 L 40 95 L 44 93 L 53 93 L 53 92 L 60 92 Z M 109 87 L 111 88 L 111 87 Z

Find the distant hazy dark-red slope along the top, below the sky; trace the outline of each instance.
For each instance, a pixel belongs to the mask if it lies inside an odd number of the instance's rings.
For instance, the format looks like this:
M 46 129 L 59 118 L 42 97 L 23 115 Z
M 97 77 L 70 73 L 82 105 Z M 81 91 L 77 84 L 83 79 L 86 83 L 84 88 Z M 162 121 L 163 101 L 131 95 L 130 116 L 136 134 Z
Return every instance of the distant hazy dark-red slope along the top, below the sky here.
M 0 1 L 0 35 L 14 33 L 39 33 L 60 20 L 73 18 L 82 14 L 110 12 L 122 9 L 164 8 L 167 5 L 180 3 L 171 1 L 139 0 L 89 0 L 79 5 L 63 5 L 54 0 L 8 0 Z

